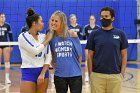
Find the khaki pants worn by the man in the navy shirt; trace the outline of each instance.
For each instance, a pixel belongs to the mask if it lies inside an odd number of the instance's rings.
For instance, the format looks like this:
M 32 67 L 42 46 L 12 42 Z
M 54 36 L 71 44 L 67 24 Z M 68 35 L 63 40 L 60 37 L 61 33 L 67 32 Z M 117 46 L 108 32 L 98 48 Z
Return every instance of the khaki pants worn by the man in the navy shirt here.
M 90 75 L 91 93 L 121 93 L 122 81 L 122 74 L 92 72 Z

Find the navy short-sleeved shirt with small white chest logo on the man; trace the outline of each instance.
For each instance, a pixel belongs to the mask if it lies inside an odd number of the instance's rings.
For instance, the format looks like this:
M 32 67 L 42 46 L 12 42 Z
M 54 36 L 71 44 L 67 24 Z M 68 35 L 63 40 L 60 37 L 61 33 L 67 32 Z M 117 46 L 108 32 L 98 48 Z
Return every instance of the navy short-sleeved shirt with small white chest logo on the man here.
M 121 50 L 128 47 L 128 41 L 123 31 L 117 28 L 108 31 L 100 28 L 93 31 L 86 47 L 94 51 L 93 72 L 103 74 L 121 72 Z

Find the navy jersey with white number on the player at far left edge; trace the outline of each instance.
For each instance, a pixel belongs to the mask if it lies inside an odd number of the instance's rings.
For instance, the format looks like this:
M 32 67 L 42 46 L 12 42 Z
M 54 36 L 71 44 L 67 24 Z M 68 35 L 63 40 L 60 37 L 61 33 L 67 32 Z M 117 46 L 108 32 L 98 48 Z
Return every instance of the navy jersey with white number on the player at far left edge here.
M 11 27 L 8 23 L 0 26 L 0 42 L 13 41 Z

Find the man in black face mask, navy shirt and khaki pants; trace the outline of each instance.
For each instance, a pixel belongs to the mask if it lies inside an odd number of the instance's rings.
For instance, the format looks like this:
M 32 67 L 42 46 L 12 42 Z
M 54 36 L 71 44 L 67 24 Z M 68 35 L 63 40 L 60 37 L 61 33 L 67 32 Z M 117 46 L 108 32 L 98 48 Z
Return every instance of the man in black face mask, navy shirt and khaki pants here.
M 122 30 L 113 27 L 114 19 L 112 8 L 102 8 L 102 28 L 93 31 L 87 42 L 91 93 L 121 92 L 127 64 L 128 41 Z

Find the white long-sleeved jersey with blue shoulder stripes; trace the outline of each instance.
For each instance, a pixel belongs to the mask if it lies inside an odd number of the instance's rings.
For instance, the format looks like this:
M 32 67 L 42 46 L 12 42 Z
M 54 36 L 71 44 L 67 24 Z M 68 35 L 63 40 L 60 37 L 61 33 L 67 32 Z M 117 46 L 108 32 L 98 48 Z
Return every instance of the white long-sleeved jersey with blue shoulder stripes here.
M 38 33 L 38 41 L 29 32 L 21 33 L 18 37 L 19 49 L 22 58 L 21 68 L 43 67 L 52 60 L 50 46 L 41 44 L 46 35 Z

